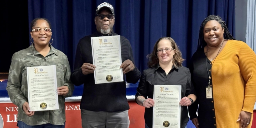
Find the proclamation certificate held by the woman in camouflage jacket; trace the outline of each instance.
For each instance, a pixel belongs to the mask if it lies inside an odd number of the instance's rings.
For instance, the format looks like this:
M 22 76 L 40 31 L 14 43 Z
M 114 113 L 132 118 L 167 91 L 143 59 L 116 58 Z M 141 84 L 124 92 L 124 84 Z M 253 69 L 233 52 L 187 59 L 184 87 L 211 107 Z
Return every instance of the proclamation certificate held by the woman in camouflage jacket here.
M 59 109 L 56 66 L 27 67 L 30 111 Z

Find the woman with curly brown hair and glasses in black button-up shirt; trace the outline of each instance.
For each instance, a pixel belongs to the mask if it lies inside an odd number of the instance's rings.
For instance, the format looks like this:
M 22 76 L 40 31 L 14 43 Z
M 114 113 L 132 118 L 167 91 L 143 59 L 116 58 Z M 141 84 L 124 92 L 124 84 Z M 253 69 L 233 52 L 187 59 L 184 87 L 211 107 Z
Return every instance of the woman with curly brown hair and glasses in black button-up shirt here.
M 186 128 L 189 120 L 187 106 L 196 100 L 196 96 L 190 71 L 182 66 L 184 59 L 179 47 L 172 38 L 162 37 L 148 58 L 149 68 L 143 71 L 136 94 L 136 102 L 146 107 L 145 127 L 152 128 L 153 125 L 154 85 L 181 85 L 181 128 Z

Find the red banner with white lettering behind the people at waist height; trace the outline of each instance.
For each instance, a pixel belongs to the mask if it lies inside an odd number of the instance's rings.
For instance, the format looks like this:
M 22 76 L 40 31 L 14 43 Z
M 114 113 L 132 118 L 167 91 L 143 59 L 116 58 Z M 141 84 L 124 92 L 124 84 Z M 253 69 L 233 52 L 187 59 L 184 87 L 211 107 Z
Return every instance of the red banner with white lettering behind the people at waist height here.
M 66 110 L 66 127 L 65 128 L 82 128 L 80 102 L 65 102 Z M 129 101 L 129 128 L 142 128 L 145 127 L 144 110 L 135 103 Z M 0 103 L 0 128 L 18 128 L 17 125 L 18 107 L 13 103 Z M 1 118 L 2 117 L 2 118 Z M 1 124 L 2 122 L 2 124 Z M 3 126 L 1 126 L 3 125 Z

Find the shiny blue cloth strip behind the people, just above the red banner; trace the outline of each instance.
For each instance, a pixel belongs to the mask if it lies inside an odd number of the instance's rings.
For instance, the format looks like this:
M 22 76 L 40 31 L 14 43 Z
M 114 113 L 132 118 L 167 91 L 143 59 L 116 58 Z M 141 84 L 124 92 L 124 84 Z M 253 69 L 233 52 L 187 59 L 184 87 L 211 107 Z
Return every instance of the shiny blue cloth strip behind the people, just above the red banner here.
M 126 95 L 135 95 L 139 82 L 136 84 L 126 83 Z M 9 97 L 6 91 L 7 79 L 0 80 L 0 97 Z M 84 85 L 75 86 L 72 96 L 82 96 Z

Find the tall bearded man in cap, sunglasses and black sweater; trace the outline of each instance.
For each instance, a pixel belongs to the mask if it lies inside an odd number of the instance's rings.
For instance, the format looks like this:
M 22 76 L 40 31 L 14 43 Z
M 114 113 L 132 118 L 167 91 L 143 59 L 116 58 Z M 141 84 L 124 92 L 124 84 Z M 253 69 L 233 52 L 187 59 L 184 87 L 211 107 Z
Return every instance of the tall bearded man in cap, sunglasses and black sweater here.
M 120 36 L 124 82 L 95 84 L 91 37 L 118 35 L 113 32 L 115 24 L 114 7 L 109 3 L 98 5 L 94 19 L 97 31 L 79 40 L 76 49 L 74 71 L 71 81 L 76 86 L 84 84 L 81 99 L 83 128 L 128 128 L 129 104 L 126 98 L 126 83 L 136 83 L 140 71 L 134 65 L 131 44 Z M 125 78 L 126 76 L 126 78 Z

